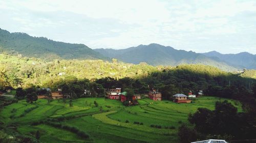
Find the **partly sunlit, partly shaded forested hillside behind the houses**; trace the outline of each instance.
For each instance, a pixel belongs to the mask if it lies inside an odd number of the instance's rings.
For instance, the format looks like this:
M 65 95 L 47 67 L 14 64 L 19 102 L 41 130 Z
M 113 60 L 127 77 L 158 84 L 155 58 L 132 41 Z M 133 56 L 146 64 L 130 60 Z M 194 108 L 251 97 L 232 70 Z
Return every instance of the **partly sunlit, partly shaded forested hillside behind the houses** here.
M 204 65 L 150 66 L 125 64 L 113 59 L 101 60 L 55 60 L 44 62 L 35 58 L 19 58 L 0 54 L 0 87 L 28 88 L 31 85 L 57 89 L 70 83 L 76 88 L 108 89 L 113 87 L 131 88 L 137 93 L 147 93 L 151 88 L 159 89 L 164 98 L 189 90 L 208 91 L 222 96 L 223 89 L 243 92 L 250 89 L 255 79 L 241 77 Z M 84 87 L 82 87 L 84 86 Z M 96 90 L 97 91 L 97 90 Z M 101 90 L 102 91 L 102 90 Z M 102 94 L 102 93 L 99 93 Z M 102 95 L 103 96 L 103 95 Z M 232 94 L 223 96 L 233 96 Z

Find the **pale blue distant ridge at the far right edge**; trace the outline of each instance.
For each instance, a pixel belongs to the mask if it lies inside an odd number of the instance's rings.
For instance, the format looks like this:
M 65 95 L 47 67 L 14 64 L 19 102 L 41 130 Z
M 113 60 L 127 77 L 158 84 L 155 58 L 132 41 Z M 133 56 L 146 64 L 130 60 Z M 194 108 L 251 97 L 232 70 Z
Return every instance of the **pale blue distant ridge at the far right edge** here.
M 237 54 L 222 54 L 217 51 L 202 53 L 208 57 L 216 57 L 232 65 L 241 66 L 246 69 L 256 69 L 256 54 L 240 52 Z

